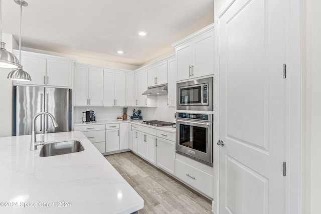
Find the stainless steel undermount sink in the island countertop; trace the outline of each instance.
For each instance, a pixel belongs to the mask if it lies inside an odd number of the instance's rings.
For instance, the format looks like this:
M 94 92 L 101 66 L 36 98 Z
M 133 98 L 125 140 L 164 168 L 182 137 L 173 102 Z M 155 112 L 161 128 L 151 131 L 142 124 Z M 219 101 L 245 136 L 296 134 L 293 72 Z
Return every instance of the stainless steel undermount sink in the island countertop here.
M 78 140 L 59 141 L 47 143 L 40 150 L 41 157 L 69 154 L 85 150 Z

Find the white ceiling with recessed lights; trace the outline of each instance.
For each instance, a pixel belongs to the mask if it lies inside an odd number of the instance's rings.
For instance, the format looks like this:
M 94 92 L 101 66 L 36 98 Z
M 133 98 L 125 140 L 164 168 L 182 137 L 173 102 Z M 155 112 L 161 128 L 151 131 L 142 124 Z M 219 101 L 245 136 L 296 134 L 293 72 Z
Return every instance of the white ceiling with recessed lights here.
M 3 32 L 19 41 L 20 6 L 14 0 L 2 2 Z M 213 0 L 27 3 L 22 11 L 23 47 L 134 66 L 174 53 L 173 43 L 214 22 Z M 138 36 L 138 31 L 147 36 Z

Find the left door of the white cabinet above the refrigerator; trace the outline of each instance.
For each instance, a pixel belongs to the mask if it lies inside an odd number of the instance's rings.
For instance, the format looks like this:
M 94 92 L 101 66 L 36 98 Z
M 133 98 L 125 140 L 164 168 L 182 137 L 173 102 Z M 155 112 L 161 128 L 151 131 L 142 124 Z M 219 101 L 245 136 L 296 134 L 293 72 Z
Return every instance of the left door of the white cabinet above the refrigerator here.
M 31 82 L 29 81 L 17 81 L 17 84 L 24 85 L 46 85 L 46 58 L 45 57 L 33 57 L 25 54 L 21 54 L 21 64 L 24 71 L 28 72 L 31 76 Z

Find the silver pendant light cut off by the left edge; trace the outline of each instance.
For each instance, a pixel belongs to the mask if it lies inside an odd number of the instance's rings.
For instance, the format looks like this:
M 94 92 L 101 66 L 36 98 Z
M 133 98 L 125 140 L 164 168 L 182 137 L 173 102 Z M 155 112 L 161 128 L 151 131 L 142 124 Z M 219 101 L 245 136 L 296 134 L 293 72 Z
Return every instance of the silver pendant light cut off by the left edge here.
M 18 68 L 18 58 L 6 50 L 6 43 L 2 41 L 2 2 L 0 0 L 0 68 Z

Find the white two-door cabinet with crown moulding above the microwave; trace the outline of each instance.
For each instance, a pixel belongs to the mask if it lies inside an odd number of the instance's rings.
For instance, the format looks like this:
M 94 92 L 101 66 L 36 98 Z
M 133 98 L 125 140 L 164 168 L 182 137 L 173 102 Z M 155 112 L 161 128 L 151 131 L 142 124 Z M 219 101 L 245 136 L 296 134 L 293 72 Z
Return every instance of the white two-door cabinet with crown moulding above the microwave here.
M 214 74 L 213 24 L 174 44 L 177 80 Z

